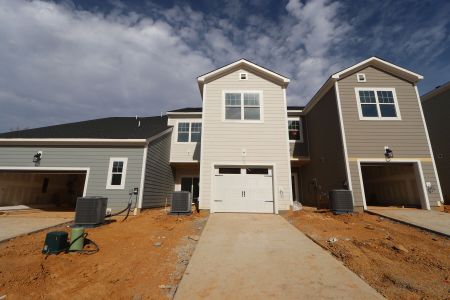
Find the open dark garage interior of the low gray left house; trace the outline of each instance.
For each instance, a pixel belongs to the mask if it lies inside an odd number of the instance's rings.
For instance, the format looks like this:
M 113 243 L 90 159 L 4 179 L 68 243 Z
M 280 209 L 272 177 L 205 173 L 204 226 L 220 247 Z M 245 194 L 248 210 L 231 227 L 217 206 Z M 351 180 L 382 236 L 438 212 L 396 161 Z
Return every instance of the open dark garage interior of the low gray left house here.
M 0 209 L 25 205 L 49 210 L 75 210 L 83 196 L 85 171 L 0 171 Z

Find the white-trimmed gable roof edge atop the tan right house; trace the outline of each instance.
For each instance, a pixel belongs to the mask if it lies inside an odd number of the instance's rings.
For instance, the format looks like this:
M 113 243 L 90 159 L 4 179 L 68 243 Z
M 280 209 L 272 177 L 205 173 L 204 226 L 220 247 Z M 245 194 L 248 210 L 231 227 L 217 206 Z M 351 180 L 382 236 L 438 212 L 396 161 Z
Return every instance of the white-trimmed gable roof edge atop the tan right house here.
M 368 66 L 373 66 L 378 69 L 384 70 L 409 82 L 413 82 L 414 84 L 423 79 L 422 75 L 404 69 L 381 58 L 372 56 L 366 60 L 363 60 L 357 64 L 354 64 L 348 68 L 332 74 L 320 87 L 316 94 L 314 94 L 311 100 L 306 104 L 304 112 L 307 113 L 309 110 L 311 110 L 314 105 L 316 105 L 316 103 L 334 86 L 334 83 L 336 81 L 348 77 L 349 75 L 354 74 Z

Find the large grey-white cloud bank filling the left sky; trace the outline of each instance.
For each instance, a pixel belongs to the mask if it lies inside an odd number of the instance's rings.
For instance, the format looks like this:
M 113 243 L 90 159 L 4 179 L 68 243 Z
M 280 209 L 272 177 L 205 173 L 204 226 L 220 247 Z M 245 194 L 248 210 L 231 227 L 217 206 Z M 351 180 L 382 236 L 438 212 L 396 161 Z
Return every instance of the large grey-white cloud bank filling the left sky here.
M 0 129 L 199 105 L 213 68 L 165 22 L 48 2 L 0 4 Z

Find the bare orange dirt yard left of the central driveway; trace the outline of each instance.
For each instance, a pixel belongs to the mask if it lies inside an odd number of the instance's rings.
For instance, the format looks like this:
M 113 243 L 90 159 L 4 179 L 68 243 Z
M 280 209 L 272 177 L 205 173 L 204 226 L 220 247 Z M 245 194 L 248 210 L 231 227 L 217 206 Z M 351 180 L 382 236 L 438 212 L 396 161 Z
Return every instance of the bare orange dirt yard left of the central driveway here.
M 97 228 L 98 253 L 41 254 L 48 231 L 0 243 L 0 297 L 10 299 L 167 299 L 189 262 L 207 212 L 143 211 Z

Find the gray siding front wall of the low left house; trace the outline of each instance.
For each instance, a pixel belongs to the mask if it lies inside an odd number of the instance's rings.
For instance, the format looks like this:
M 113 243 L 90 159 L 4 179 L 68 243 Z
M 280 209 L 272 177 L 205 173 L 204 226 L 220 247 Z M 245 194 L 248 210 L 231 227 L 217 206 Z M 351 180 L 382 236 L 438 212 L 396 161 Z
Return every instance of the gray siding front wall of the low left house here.
M 113 211 L 126 207 L 128 191 L 140 187 L 143 147 L 74 147 L 74 146 L 18 146 L 0 147 L 0 167 L 35 167 L 32 162 L 37 151 L 43 152 L 40 167 L 90 168 L 86 196 L 108 198 L 108 207 Z M 109 158 L 127 157 L 125 188 L 106 189 Z

